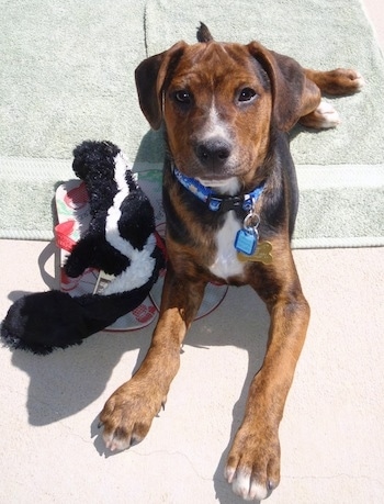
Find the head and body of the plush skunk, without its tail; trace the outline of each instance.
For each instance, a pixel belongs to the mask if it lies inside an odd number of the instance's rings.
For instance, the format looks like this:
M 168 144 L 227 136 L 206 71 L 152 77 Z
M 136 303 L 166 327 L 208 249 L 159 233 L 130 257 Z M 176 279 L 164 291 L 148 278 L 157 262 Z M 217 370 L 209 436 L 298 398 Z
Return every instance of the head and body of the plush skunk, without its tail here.
M 84 181 L 92 220 L 71 250 L 66 273 L 76 278 L 94 267 L 117 276 L 155 232 L 154 209 L 111 142 L 83 142 L 74 150 L 72 166 Z

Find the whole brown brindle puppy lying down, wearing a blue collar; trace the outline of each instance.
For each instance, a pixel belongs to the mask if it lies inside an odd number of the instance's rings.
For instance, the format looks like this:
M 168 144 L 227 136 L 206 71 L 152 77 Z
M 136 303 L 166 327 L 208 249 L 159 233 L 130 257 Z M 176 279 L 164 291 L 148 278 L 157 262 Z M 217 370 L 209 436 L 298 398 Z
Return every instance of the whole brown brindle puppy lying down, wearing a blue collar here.
M 249 284 L 268 306 L 269 344 L 225 475 L 236 494 L 262 500 L 279 484 L 279 424 L 309 320 L 290 247 L 297 187 L 286 132 L 298 121 L 336 126 L 321 92 L 355 92 L 363 80 L 353 70 L 302 68 L 257 42 L 217 43 L 204 27 L 200 41 L 179 42 L 136 70 L 145 116 L 166 127 L 169 264 L 151 346 L 101 423 L 111 449 L 140 441 L 166 402 L 206 283 Z

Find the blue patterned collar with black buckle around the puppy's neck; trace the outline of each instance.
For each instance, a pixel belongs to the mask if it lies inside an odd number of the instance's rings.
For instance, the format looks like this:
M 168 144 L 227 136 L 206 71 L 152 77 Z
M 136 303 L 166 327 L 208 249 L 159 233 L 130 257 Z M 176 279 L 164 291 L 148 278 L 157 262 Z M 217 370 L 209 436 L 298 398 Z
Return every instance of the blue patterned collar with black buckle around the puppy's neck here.
M 212 188 L 203 186 L 199 180 L 191 177 L 187 177 L 181 173 L 178 168 L 173 167 L 173 175 L 178 181 L 188 189 L 192 194 L 194 194 L 200 201 L 203 201 L 207 204 L 208 209 L 213 212 L 228 212 L 229 210 L 242 209 L 245 212 L 252 210 L 253 204 L 260 198 L 263 189 L 264 182 L 253 189 L 252 192 L 241 194 L 241 195 L 225 195 L 222 197 L 216 194 Z

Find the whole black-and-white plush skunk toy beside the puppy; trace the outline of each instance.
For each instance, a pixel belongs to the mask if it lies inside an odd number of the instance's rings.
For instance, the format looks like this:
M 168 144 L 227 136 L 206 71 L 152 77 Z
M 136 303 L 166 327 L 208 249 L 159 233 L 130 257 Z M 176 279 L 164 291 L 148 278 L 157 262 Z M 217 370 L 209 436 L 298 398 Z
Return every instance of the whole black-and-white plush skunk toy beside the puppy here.
M 45 355 L 79 345 L 142 304 L 165 267 L 154 209 L 118 147 L 82 143 L 74 150 L 74 171 L 84 181 L 91 222 L 65 271 L 76 278 L 93 267 L 112 280 L 100 294 L 49 291 L 19 299 L 1 325 L 2 339 L 13 348 Z

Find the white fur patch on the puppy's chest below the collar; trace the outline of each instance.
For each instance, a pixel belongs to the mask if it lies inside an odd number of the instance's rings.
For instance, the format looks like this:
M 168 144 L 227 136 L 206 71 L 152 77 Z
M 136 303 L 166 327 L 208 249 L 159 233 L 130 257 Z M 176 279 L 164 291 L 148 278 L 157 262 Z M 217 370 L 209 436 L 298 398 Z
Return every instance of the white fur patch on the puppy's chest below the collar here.
M 210 271 L 218 278 L 228 279 L 242 273 L 244 264 L 237 259 L 234 245 L 239 229 L 240 223 L 235 219 L 234 212 L 228 212 L 223 227 L 216 235 L 217 253 L 214 262 L 210 266 Z

